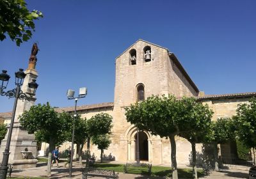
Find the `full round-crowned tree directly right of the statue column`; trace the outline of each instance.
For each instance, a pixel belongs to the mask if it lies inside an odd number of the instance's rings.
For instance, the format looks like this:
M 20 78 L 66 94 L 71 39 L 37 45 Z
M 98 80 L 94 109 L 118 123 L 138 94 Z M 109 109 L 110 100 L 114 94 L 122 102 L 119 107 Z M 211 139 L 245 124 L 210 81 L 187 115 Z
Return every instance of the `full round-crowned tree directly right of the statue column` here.
M 33 105 L 29 111 L 19 116 L 19 120 L 28 134 L 35 134 L 37 141 L 49 143 L 47 175 L 51 176 L 51 152 L 55 146 L 66 141 L 72 116 L 68 113 L 56 113 L 47 103 Z

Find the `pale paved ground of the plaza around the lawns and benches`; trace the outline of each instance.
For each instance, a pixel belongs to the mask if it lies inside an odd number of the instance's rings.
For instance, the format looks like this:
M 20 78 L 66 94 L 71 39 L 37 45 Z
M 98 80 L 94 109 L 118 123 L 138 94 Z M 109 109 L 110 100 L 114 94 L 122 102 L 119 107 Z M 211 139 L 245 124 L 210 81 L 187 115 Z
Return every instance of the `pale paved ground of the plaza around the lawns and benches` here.
M 51 178 L 68 178 L 69 169 L 67 167 L 63 167 L 64 163 L 60 163 L 60 167 L 52 167 L 52 176 Z M 56 165 L 56 164 L 55 164 Z M 179 168 L 184 168 L 185 166 L 179 166 Z M 250 167 L 244 166 L 236 166 L 231 167 L 227 170 L 221 171 L 213 171 L 211 175 L 204 176 L 201 178 L 205 179 L 231 179 L 231 178 L 248 178 L 248 171 Z M 46 176 L 46 169 L 45 163 L 39 163 L 38 167 L 31 168 L 31 169 L 17 169 L 13 170 L 12 176 Z M 72 178 L 82 178 L 81 176 L 81 166 L 75 165 L 73 168 Z M 98 177 L 93 177 L 97 179 Z M 136 179 L 144 179 L 144 178 L 163 178 L 163 177 L 154 177 L 154 176 L 143 176 L 143 175 L 133 175 L 133 174 L 124 174 L 119 173 L 119 178 L 136 178 Z M 180 178 L 181 179 L 181 178 Z

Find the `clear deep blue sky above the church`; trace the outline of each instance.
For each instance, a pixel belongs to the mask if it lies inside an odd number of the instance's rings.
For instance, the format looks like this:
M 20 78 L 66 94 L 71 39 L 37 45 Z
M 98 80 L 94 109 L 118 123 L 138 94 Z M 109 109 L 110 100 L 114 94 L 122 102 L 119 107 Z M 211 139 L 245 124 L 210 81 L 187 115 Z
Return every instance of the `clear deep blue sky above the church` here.
M 40 10 L 36 31 L 17 47 L 0 42 L 0 70 L 28 67 L 38 42 L 36 103 L 74 105 L 68 88 L 88 88 L 78 105 L 113 102 L 115 58 L 139 38 L 166 47 L 206 94 L 256 91 L 256 1 L 27 0 Z M 0 112 L 13 99 L 0 97 Z

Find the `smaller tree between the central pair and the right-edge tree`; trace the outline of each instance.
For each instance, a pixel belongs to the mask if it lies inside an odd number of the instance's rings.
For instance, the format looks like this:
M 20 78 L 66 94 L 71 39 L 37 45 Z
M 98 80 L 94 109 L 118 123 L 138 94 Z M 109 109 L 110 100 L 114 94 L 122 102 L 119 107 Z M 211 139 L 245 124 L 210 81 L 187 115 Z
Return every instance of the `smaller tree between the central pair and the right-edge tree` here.
M 214 137 L 211 140 L 214 148 L 214 169 L 218 170 L 218 144 L 235 140 L 234 123 L 230 118 L 218 118 L 212 122 L 212 130 L 214 131 Z

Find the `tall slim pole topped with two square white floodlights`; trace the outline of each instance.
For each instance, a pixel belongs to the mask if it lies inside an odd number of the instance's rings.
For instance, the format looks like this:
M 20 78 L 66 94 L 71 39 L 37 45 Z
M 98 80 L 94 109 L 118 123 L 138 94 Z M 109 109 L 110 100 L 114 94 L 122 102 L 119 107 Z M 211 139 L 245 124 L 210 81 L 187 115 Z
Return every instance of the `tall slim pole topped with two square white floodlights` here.
M 68 100 L 75 100 L 75 113 L 74 118 L 76 120 L 76 105 L 78 98 L 84 98 L 87 95 L 87 88 L 80 88 L 79 89 L 79 95 L 78 97 L 74 97 L 75 91 L 72 89 L 68 89 L 67 91 L 67 97 Z M 73 131 L 72 131 L 72 145 L 71 145 L 71 156 L 70 156 L 70 165 L 69 165 L 69 178 L 72 178 L 72 161 L 73 161 L 73 155 L 74 155 L 74 136 L 75 136 L 75 123 L 73 121 Z M 0 178 L 1 179 L 1 178 Z

